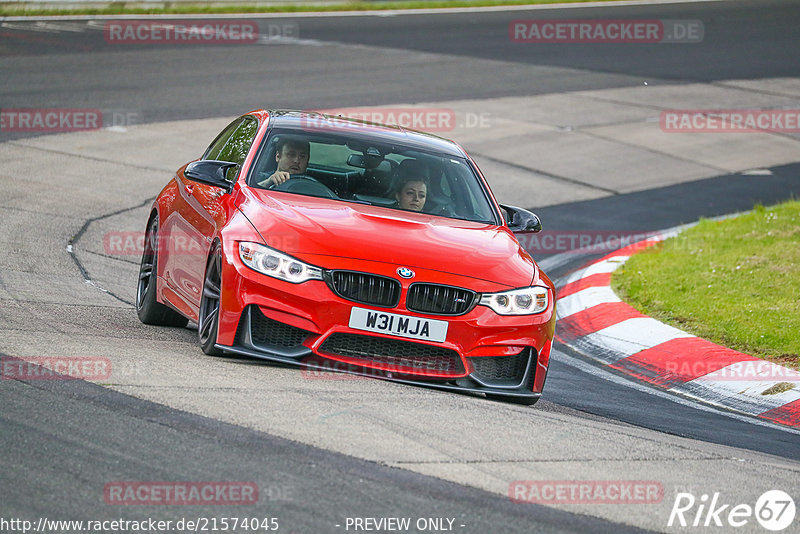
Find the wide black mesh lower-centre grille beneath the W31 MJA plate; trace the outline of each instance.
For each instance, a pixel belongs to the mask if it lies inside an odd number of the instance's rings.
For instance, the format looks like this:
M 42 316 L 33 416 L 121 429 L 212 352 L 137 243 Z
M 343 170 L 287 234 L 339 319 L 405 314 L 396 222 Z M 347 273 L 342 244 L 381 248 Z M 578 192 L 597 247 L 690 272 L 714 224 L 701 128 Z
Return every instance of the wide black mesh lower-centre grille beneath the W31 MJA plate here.
M 319 351 L 365 363 L 395 366 L 398 370 L 436 371 L 454 375 L 464 372 L 456 351 L 400 339 L 338 333 L 328 337 Z

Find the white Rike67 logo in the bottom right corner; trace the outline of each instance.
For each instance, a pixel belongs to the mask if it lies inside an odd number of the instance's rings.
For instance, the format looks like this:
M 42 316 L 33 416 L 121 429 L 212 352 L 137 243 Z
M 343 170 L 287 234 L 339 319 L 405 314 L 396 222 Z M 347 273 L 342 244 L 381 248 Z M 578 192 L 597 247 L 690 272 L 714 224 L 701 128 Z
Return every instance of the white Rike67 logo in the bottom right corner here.
M 678 493 L 669 514 L 667 526 L 677 527 L 727 527 L 739 528 L 751 523 L 753 518 L 765 529 L 778 532 L 794 522 L 794 499 L 781 490 L 764 492 L 755 506 L 726 503 L 719 492 L 712 496 L 703 494 L 696 498 L 691 493 Z

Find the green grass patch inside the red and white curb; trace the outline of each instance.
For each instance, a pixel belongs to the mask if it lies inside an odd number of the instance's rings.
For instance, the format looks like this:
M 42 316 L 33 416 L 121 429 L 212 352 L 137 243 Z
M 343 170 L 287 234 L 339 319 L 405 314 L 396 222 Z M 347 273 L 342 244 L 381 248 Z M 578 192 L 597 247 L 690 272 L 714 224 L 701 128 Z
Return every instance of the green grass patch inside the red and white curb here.
M 701 220 L 611 280 L 632 306 L 720 345 L 800 367 L 800 202 Z

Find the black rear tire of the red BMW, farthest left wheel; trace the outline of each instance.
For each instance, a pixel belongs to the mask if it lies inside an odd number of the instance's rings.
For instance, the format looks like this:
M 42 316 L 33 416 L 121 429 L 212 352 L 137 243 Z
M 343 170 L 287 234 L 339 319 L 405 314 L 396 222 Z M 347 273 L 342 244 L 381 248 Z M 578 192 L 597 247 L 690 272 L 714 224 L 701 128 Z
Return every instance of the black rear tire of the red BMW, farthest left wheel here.
M 144 236 L 139 282 L 136 285 L 136 313 L 144 324 L 184 327 L 189 319 L 156 299 L 158 272 L 158 217 L 153 217 Z

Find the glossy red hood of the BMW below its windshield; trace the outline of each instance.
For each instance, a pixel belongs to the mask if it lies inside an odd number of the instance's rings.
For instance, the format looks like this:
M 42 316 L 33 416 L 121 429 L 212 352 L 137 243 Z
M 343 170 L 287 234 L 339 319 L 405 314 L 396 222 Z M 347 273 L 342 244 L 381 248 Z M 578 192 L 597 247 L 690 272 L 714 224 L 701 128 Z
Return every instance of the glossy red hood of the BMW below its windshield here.
M 317 265 L 320 256 L 353 258 L 509 287 L 537 275 L 503 226 L 258 189 L 243 196 L 239 208 L 265 244 Z

